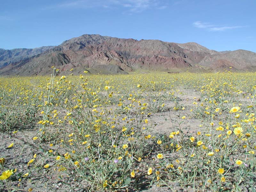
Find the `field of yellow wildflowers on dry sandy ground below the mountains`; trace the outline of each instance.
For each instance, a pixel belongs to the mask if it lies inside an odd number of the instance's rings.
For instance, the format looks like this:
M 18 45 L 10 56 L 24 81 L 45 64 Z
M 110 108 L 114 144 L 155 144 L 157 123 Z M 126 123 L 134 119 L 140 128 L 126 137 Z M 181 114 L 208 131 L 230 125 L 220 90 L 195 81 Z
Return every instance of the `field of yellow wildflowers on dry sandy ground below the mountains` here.
M 256 191 L 256 73 L 0 77 L 1 191 Z

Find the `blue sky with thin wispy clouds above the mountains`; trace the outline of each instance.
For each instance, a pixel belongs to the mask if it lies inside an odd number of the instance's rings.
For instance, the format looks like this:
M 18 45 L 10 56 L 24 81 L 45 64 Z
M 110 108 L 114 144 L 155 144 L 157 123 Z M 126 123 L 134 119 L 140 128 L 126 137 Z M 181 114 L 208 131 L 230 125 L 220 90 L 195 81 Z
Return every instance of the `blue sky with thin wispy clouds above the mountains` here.
M 0 2 L 3 49 L 58 45 L 83 34 L 100 34 L 256 52 L 255 0 Z

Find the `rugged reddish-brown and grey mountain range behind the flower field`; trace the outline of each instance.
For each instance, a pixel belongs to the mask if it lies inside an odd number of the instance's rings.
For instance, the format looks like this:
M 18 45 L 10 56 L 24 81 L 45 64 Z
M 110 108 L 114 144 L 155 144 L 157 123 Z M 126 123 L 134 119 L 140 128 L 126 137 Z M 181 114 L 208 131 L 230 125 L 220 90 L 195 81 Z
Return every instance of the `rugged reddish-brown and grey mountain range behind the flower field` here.
M 58 46 L 0 49 L 0 75 L 61 73 L 127 74 L 131 71 L 256 71 L 256 53 L 246 50 L 217 52 L 197 43 L 121 39 L 82 35 Z

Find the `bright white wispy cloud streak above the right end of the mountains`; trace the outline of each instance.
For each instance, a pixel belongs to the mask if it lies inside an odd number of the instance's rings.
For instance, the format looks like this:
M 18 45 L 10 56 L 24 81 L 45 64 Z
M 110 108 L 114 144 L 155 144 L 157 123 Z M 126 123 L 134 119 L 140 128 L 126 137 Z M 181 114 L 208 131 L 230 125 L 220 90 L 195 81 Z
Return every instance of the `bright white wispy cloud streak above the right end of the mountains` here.
M 228 29 L 247 27 L 247 26 L 218 26 L 218 25 L 212 25 L 210 23 L 205 23 L 205 22 L 202 22 L 202 21 L 196 21 L 196 22 L 193 23 L 193 25 L 196 28 L 204 28 L 208 31 L 226 31 Z

